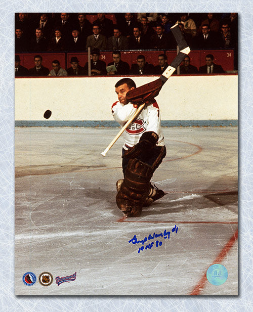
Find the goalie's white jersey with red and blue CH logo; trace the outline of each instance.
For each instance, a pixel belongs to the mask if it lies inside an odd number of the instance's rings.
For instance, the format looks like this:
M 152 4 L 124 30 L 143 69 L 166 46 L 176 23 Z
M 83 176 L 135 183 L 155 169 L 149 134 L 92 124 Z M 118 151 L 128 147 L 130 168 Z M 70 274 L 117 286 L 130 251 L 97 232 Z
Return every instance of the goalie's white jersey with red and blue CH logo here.
M 126 105 L 115 102 L 111 111 L 113 118 L 121 125 L 121 127 L 134 116 L 137 108 L 132 103 Z M 150 105 L 145 106 L 136 119 L 124 130 L 123 148 L 128 150 L 136 145 L 145 131 L 154 131 L 158 135 L 157 146 L 164 146 L 164 138 L 161 130 L 161 117 L 158 104 L 154 100 Z

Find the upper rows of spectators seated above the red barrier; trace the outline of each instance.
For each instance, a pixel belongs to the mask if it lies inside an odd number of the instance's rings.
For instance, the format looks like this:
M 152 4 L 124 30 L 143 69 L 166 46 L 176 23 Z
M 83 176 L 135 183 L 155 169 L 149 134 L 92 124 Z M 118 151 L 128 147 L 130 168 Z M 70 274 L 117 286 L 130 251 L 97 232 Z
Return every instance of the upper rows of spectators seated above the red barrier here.
M 171 50 L 180 24 L 191 49 L 236 48 L 237 13 L 17 13 L 15 52 Z M 114 22 L 114 23 L 113 23 Z

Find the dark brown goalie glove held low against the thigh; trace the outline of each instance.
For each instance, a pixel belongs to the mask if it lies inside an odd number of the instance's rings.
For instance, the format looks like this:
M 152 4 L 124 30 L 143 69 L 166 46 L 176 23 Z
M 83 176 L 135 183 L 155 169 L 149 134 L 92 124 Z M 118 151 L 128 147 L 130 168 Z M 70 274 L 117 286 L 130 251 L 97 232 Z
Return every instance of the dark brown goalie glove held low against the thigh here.
M 140 158 L 147 156 L 152 152 L 153 147 L 158 141 L 158 135 L 153 131 L 144 132 L 139 142 L 131 149 L 125 152 L 124 157 L 126 158 Z

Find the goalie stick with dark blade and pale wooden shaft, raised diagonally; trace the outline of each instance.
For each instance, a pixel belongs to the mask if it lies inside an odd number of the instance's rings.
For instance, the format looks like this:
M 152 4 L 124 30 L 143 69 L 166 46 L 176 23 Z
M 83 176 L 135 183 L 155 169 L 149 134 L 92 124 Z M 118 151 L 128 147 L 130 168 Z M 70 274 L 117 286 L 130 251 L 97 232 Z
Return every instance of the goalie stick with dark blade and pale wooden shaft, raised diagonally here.
M 162 75 L 147 84 L 144 84 L 138 88 L 136 88 L 135 90 L 129 91 L 127 94 L 127 99 L 131 100 L 131 94 L 135 94 L 135 97 L 137 97 L 137 95 L 139 94 L 139 96 L 141 97 L 145 97 L 145 102 L 148 100 L 148 96 L 150 94 L 150 90 L 151 91 L 155 91 L 155 96 L 156 97 L 159 94 L 159 91 L 162 87 L 162 85 L 168 80 L 168 78 L 171 77 L 171 75 L 174 73 L 174 71 L 176 70 L 176 68 L 180 65 L 180 63 L 183 61 L 183 59 L 186 57 L 186 55 L 188 55 L 190 53 L 190 48 L 187 46 L 187 43 L 185 41 L 185 38 L 183 37 L 183 34 L 178 26 L 178 24 L 174 25 L 171 27 L 172 33 L 177 41 L 178 47 L 179 47 L 179 53 L 176 56 L 176 58 L 172 61 L 172 63 L 170 65 L 168 65 L 168 67 L 166 68 L 166 70 L 162 73 Z M 152 90 L 153 88 L 153 90 Z M 152 92 L 152 95 L 153 95 Z M 114 145 L 114 143 L 118 140 L 118 138 L 122 135 L 122 133 L 124 132 L 124 130 L 130 125 L 130 123 L 140 114 L 140 112 L 142 111 L 142 109 L 144 108 L 146 103 L 141 104 L 138 109 L 136 110 L 136 113 L 134 114 L 134 116 L 132 118 L 130 118 L 125 124 L 124 126 L 120 129 L 120 131 L 118 132 L 118 134 L 116 135 L 116 137 L 111 141 L 111 143 L 107 146 L 107 148 L 101 153 L 101 155 L 103 155 L 105 157 L 106 153 L 110 150 L 110 148 Z

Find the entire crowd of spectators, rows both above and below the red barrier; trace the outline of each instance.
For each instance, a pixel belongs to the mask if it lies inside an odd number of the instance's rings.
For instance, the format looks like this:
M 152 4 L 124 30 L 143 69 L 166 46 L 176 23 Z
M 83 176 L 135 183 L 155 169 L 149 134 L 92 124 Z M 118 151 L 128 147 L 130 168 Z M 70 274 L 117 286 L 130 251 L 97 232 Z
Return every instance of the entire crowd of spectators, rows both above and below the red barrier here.
M 72 57 L 71 67 L 63 69 L 56 59 L 52 69 L 45 68 L 43 52 L 92 51 L 91 74 L 161 74 L 167 67 L 165 51 L 177 48 L 171 27 L 179 23 L 191 50 L 234 49 L 237 69 L 237 13 L 16 13 L 15 76 L 23 75 L 88 75 L 88 63 L 79 65 Z M 134 64 L 121 60 L 120 51 L 143 50 Z M 162 50 L 157 66 L 145 60 L 145 50 Z M 100 51 L 111 51 L 112 62 L 99 60 Z M 20 53 L 34 53 L 35 66 L 20 65 Z M 213 56 L 212 54 L 209 54 Z M 213 58 L 214 59 L 214 58 Z M 186 57 L 180 73 L 202 72 Z M 212 69 L 213 72 L 213 69 Z

